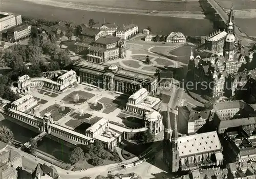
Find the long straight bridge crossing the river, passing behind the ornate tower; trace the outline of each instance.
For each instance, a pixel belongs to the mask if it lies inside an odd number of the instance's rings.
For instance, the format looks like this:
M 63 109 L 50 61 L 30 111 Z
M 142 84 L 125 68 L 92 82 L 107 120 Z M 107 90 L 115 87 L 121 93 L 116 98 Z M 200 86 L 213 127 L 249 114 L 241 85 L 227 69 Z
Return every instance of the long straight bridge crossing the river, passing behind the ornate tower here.
M 216 12 L 220 15 L 220 17 L 222 18 L 222 20 L 224 21 L 224 22 L 227 22 L 227 20 L 228 20 L 228 15 L 227 15 L 227 13 L 222 9 L 222 7 L 220 6 L 220 5 L 218 5 L 218 3 L 215 1 L 215 0 L 207 0 L 208 1 L 208 3 L 212 6 L 212 8 L 214 8 L 215 10 L 216 10 Z M 231 4 L 230 4 L 230 8 L 231 8 Z M 238 27 L 237 27 L 237 25 L 235 24 L 235 28 L 234 28 L 234 33 L 236 33 L 236 36 L 237 36 L 237 38 L 238 39 L 240 39 L 240 40 L 242 40 L 242 45 L 248 45 L 248 43 L 245 41 L 245 40 L 243 40 L 244 38 L 242 38 L 241 37 L 241 35 L 242 35 L 242 32 L 240 32 L 239 30 L 238 30 Z

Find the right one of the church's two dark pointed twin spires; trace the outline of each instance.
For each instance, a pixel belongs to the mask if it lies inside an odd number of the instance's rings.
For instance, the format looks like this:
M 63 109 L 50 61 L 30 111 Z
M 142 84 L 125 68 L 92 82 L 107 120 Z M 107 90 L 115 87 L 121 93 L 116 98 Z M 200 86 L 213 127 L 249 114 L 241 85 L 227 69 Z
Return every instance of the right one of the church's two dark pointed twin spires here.
M 179 150 L 178 150 L 178 127 L 176 114 L 174 115 L 174 127 L 172 134 L 172 154 L 170 155 L 172 166 L 170 171 L 177 172 L 180 168 Z

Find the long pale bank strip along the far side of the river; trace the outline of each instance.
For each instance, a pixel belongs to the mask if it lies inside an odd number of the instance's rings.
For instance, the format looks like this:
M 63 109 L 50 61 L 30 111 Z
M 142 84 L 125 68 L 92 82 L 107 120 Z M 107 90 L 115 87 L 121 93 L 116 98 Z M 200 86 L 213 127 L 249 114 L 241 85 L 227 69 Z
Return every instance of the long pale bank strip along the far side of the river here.
M 100 7 L 92 6 L 80 2 L 68 2 L 63 0 L 22 0 L 40 5 L 48 5 L 61 8 L 79 9 L 85 11 L 94 12 L 106 12 L 106 13 L 117 13 L 117 14 L 136 14 L 136 15 L 149 15 L 149 16 L 161 16 L 161 17 L 180 17 L 180 18 L 193 18 L 203 19 L 205 15 L 200 11 L 188 12 L 188 11 L 147 11 L 147 10 L 134 10 L 125 8 L 111 8 L 111 7 Z

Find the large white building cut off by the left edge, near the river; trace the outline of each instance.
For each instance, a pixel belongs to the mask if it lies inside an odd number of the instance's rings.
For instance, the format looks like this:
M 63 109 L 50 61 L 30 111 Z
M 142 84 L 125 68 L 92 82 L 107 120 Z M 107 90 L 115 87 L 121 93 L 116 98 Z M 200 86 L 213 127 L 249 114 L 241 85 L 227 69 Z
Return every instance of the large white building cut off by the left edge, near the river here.
M 22 15 L 0 12 L 0 31 L 7 30 L 22 23 Z

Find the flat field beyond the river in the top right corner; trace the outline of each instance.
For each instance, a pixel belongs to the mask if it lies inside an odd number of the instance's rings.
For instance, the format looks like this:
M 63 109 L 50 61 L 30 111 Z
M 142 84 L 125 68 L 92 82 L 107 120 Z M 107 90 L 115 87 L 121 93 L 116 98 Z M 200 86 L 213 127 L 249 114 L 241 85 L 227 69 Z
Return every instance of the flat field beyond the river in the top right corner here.
M 220 6 L 223 7 L 224 9 L 230 9 L 232 3 L 233 3 L 234 10 L 256 9 L 256 1 L 252 1 L 252 0 L 241 0 L 241 1 L 216 0 L 216 1 L 220 3 Z

